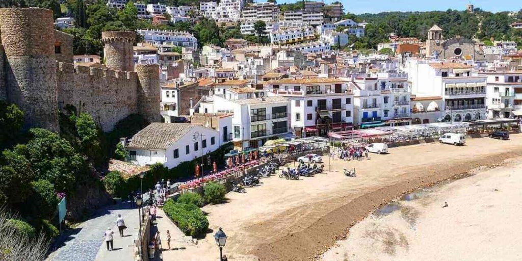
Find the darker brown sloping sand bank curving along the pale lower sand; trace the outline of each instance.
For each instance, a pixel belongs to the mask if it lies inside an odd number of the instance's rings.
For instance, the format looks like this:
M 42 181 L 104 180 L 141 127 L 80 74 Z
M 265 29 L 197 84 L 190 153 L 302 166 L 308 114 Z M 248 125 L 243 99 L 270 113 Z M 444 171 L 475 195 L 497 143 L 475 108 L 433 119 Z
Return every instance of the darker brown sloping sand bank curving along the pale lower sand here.
M 337 240 L 347 237 L 350 228 L 367 218 L 376 209 L 391 203 L 402 195 L 424 187 L 434 186 L 448 179 L 469 176 L 469 172 L 479 168 L 491 169 L 508 159 L 522 156 L 522 150 L 495 153 L 484 158 L 460 162 L 437 170 L 428 176 L 419 176 L 392 185 L 384 186 L 370 193 L 363 194 L 348 203 L 329 211 L 315 221 L 312 226 L 291 234 L 283 235 L 274 242 L 261 244 L 248 254 L 259 260 L 313 260 L 333 247 Z M 464 164 L 465 163 L 465 164 Z M 468 168 L 464 165 L 470 165 Z M 474 175 L 474 174 L 471 174 Z M 461 177 L 460 177 L 461 179 Z M 342 219 L 339 217 L 345 216 Z M 337 228 L 338 232 L 331 231 Z M 335 229 L 334 229 L 335 230 Z M 313 241 L 310 234 L 317 235 Z M 298 246 L 295 251 L 288 251 L 287 246 Z

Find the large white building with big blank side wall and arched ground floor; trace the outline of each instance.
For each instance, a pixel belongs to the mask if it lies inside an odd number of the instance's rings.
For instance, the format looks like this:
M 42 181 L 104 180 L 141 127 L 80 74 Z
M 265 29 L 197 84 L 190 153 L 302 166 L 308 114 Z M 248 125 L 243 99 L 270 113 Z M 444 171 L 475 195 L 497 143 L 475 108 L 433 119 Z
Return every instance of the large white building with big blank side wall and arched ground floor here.
M 409 60 L 406 63 L 411 92 L 419 97 L 442 97 L 442 121 L 480 120 L 485 107 L 487 76 L 472 74 L 464 63 Z

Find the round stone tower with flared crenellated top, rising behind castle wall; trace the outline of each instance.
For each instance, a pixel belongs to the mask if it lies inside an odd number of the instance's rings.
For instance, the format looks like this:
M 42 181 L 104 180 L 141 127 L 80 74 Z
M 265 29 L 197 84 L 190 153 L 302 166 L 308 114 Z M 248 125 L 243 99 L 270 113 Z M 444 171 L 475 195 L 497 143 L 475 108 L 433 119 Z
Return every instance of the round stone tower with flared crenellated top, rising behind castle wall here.
M 103 49 L 105 65 L 113 70 L 133 72 L 132 45 L 136 40 L 136 33 L 124 31 L 102 32 L 101 39 L 105 44 Z

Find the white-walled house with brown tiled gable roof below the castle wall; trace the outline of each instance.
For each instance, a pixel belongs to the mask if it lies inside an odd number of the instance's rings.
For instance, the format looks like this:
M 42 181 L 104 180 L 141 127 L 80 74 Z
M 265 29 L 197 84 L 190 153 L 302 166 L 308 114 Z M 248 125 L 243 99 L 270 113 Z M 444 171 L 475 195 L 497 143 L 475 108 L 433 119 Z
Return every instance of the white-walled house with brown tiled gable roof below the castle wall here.
M 220 133 L 215 129 L 197 124 L 151 123 L 134 135 L 125 148 L 133 164 L 162 163 L 171 169 L 207 155 L 221 145 Z

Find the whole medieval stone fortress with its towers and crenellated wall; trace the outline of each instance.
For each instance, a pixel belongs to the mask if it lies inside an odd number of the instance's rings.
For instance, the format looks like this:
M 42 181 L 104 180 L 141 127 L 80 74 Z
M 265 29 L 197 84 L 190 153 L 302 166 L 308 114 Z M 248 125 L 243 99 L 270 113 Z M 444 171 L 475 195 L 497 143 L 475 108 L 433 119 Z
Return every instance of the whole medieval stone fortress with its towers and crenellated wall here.
M 159 122 L 159 65 L 134 66 L 134 32 L 102 32 L 105 65 L 73 65 L 73 35 L 54 30 L 53 12 L 0 9 L 0 100 L 25 112 L 25 127 L 60 131 L 66 104 L 92 115 L 103 131 L 129 114 Z

